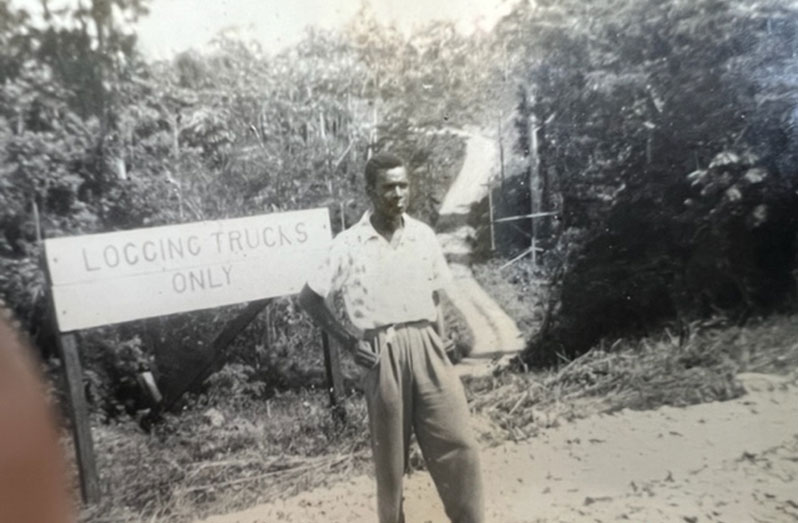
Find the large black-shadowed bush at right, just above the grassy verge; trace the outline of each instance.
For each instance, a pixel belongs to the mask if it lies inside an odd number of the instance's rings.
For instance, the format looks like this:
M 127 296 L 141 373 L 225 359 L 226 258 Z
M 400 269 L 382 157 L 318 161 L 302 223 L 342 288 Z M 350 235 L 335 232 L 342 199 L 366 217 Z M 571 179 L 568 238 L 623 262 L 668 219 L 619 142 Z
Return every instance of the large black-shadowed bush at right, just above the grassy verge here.
M 568 257 L 525 359 L 548 364 L 671 318 L 738 319 L 794 297 L 796 182 L 750 154 L 629 187 Z

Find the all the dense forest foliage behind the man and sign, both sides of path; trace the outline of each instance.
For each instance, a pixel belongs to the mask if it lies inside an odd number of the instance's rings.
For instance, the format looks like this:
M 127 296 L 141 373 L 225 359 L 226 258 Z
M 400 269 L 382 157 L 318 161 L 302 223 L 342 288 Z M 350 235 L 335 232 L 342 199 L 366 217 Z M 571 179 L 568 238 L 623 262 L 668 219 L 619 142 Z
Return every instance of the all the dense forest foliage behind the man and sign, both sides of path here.
M 554 285 L 528 362 L 663 321 L 772 311 L 795 289 L 796 14 L 783 0 L 520 2 L 491 33 L 435 22 L 405 36 L 365 6 L 276 55 L 219 37 L 151 63 L 123 29 L 146 2 L 34 17 L 2 0 L 0 297 L 47 353 L 35 213 L 46 236 L 315 206 L 340 228 L 365 206 L 374 150 L 406 157 L 415 213 L 434 222 L 463 152 L 445 129 L 477 124 L 504 138 L 500 214 L 529 209 L 535 173 L 539 210 L 559 212 L 538 230 Z M 478 206 L 474 224 L 485 217 Z M 500 247 L 528 232 L 501 226 Z M 120 368 L 154 367 L 181 390 L 236 311 L 87 333 L 96 396 L 124 394 L 106 390 Z M 253 394 L 321 383 L 291 299 L 230 357 Z

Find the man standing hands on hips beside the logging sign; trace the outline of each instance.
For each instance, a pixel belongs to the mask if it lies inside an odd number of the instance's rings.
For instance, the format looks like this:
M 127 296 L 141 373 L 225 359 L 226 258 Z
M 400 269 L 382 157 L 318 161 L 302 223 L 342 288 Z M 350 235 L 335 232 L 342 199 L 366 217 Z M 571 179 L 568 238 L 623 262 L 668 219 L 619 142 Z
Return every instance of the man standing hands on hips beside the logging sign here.
M 367 162 L 366 193 L 371 211 L 335 238 L 300 303 L 367 369 L 363 386 L 380 523 L 404 521 L 402 476 L 411 430 L 449 519 L 481 522 L 477 446 L 442 341 L 438 293 L 451 274 L 432 229 L 405 214 L 409 182 L 399 158 L 381 153 Z M 325 298 L 335 290 L 343 294 L 354 328 L 328 308 Z

